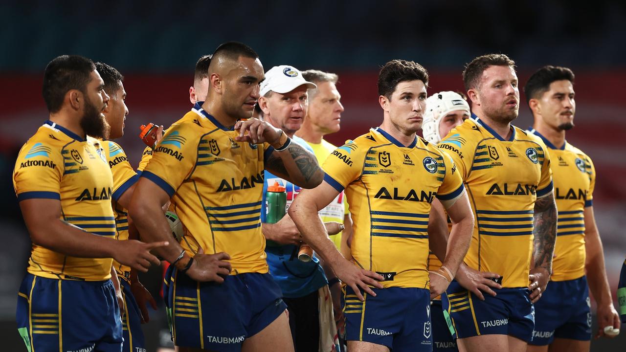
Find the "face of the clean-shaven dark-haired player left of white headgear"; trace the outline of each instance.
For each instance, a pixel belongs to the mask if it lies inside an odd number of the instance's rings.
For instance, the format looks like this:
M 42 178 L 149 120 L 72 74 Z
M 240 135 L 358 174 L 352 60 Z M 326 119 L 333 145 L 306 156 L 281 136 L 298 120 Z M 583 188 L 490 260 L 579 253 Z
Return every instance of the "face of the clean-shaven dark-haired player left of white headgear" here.
M 391 123 L 406 135 L 422 128 L 426 111 L 426 86 L 421 80 L 398 83 L 396 90 L 387 101 Z

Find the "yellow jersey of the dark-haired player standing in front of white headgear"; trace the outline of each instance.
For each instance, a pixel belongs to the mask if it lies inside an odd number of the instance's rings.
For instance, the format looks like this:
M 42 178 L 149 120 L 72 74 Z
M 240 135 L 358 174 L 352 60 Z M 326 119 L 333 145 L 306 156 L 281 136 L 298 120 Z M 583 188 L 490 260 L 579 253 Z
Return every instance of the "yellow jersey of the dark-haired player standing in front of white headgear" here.
M 323 168 L 324 180 L 346 192 L 354 263 L 379 272 L 384 287 L 428 289 L 431 202 L 463 194 L 451 159 L 422 138 L 404 147 L 376 128 L 334 150 Z

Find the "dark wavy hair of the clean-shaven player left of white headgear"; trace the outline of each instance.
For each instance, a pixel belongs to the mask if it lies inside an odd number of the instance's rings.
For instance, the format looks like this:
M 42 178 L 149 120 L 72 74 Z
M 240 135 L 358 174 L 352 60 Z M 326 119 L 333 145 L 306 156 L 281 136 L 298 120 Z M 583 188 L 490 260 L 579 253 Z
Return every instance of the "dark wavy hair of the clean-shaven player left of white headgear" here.
M 378 75 L 378 94 L 391 99 L 398 83 L 421 80 L 428 86 L 428 72 L 414 61 L 391 60 L 381 68 Z

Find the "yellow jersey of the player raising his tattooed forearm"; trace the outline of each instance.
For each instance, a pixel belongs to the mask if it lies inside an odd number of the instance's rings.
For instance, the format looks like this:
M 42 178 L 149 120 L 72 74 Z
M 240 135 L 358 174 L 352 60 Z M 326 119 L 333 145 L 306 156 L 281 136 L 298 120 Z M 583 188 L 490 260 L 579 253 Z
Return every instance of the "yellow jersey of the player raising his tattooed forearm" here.
M 141 172 L 172 199 L 185 226 L 181 246 L 191 255 L 230 255 L 231 274 L 268 272 L 261 232 L 267 143 L 237 142 L 200 105 L 172 124 Z M 145 155 L 144 155 L 145 156 Z

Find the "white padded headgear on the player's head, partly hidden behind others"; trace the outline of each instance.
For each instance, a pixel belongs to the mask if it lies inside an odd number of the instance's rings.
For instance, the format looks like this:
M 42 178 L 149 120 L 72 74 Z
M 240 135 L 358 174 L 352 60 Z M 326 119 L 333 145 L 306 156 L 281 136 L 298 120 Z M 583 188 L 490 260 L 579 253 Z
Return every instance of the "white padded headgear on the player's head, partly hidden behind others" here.
M 430 143 L 441 142 L 439 122 L 443 116 L 456 110 L 466 111 L 471 116 L 468 102 L 459 93 L 440 91 L 429 96 L 426 99 L 426 113 L 424 113 L 424 122 L 422 123 L 424 139 Z

